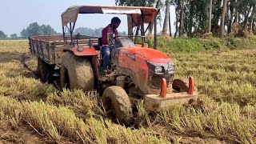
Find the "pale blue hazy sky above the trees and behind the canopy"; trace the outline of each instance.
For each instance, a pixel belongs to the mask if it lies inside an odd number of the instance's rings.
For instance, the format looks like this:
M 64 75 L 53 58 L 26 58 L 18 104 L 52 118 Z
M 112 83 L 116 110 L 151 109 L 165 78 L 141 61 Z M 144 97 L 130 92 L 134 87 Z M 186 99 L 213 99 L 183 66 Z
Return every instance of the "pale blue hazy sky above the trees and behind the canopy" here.
M 62 33 L 61 14 L 69 6 L 96 5 L 115 6 L 115 0 L 0 0 L 0 30 L 5 34 L 18 34 L 32 22 L 50 25 L 57 32 Z M 174 8 L 170 8 L 172 30 L 174 30 Z M 126 15 L 114 14 L 79 14 L 75 28 L 80 26 L 88 28 L 105 27 L 110 23 L 111 18 L 118 16 L 121 24 L 118 31 L 126 31 Z M 164 17 L 162 17 L 163 19 Z M 158 25 L 158 31 L 161 26 Z

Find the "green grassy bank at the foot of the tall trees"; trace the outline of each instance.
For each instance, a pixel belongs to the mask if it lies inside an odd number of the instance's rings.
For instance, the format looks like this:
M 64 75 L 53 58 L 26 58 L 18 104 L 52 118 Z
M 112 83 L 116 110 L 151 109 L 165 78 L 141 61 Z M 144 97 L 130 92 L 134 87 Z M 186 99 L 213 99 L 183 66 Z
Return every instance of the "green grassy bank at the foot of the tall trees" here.
M 154 47 L 154 40 L 147 40 L 150 47 Z M 158 50 L 165 53 L 191 53 L 214 50 L 243 50 L 256 48 L 256 36 L 248 38 L 165 38 L 158 37 Z

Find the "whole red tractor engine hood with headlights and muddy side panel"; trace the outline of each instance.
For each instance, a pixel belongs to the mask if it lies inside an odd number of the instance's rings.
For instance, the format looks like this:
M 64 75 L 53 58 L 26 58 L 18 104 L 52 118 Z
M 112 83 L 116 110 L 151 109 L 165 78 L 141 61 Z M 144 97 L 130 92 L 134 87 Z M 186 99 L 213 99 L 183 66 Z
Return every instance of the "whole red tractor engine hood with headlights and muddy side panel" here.
M 160 94 L 162 78 L 171 92 L 174 63 L 164 53 L 140 46 L 121 47 L 118 53 L 118 73 L 129 75 L 143 94 Z

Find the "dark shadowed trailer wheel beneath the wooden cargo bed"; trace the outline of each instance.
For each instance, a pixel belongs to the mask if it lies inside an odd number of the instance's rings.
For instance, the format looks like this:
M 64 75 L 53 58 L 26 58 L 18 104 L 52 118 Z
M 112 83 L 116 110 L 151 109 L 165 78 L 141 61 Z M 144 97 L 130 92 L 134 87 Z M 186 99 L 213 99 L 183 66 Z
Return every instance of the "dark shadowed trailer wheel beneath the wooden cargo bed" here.
M 50 65 L 38 58 L 38 76 L 42 82 L 51 82 L 55 65 Z

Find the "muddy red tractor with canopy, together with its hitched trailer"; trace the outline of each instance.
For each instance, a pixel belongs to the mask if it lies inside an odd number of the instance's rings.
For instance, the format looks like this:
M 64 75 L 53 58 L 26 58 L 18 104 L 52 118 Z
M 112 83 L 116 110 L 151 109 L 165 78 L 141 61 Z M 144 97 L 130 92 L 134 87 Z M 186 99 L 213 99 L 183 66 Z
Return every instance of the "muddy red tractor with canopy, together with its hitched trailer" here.
M 78 14 L 127 14 L 132 19 L 133 27 L 142 26 L 142 43 L 134 44 L 132 35 L 120 36 L 111 52 L 111 72 L 102 75 L 101 38 L 73 34 Z M 42 68 L 43 66 L 48 66 L 48 69 L 60 67 L 62 88 L 102 91 L 102 103 L 106 112 L 124 124 L 132 119 L 134 99 L 143 98 L 146 109 L 153 111 L 196 102 L 194 78 L 189 78 L 187 82 L 174 79 L 174 62 L 166 54 L 156 50 L 157 14 L 158 10 L 153 7 L 71 6 L 62 13 L 62 41 L 50 36 L 30 37 L 30 50 L 38 55 L 41 78 L 47 79 L 50 74 L 50 70 Z M 146 30 L 144 26 L 151 22 L 154 22 L 154 49 L 147 47 L 144 36 L 149 25 Z M 66 35 L 66 30 L 69 35 Z M 46 48 L 42 43 L 46 43 Z M 49 56 L 44 54 L 44 49 L 48 50 Z M 50 56 L 51 54 L 54 56 Z M 59 56 L 63 54 L 64 57 Z

